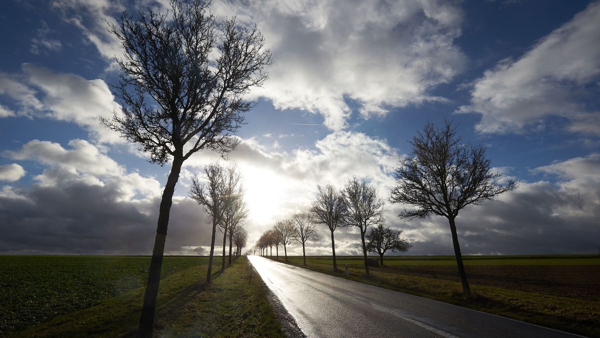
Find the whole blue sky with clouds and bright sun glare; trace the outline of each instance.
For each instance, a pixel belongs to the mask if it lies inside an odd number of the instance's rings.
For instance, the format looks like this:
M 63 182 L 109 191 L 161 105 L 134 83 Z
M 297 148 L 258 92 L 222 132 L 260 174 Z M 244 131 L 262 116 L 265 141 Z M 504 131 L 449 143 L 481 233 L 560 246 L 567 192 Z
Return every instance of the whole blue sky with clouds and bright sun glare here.
M 107 22 L 148 7 L 168 6 L 2 2 L 1 254 L 151 254 L 170 164 L 98 121 L 121 109 L 110 85 L 122 49 Z M 214 0 L 211 11 L 256 23 L 274 60 L 246 97 L 256 106 L 241 144 L 221 159 L 244 176 L 248 247 L 306 212 L 317 185 L 356 176 L 388 200 L 408 141 L 451 119 L 494 171 L 520 180 L 461 210 L 463 254 L 600 250 L 600 2 Z M 184 163 L 166 254 L 206 253 L 208 218 L 188 189 L 214 159 Z M 385 216 L 413 243 L 407 254 L 454 253 L 445 218 L 400 220 L 402 208 L 388 202 Z M 319 235 L 307 254 L 331 253 L 329 230 Z M 358 254 L 358 229 L 335 238 L 337 254 Z

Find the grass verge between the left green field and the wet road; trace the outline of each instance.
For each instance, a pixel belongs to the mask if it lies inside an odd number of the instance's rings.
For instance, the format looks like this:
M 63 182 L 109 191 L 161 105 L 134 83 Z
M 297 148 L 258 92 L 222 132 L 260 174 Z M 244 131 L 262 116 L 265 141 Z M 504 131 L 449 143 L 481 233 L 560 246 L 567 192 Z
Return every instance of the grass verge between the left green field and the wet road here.
M 266 298 L 266 286 L 248 280 L 248 263 L 240 257 L 205 285 L 206 265 L 185 269 L 161 280 L 155 319 L 160 337 L 282 336 Z M 101 301 L 88 309 L 59 316 L 14 333 L 15 337 L 128 337 L 139 321 L 144 288 Z

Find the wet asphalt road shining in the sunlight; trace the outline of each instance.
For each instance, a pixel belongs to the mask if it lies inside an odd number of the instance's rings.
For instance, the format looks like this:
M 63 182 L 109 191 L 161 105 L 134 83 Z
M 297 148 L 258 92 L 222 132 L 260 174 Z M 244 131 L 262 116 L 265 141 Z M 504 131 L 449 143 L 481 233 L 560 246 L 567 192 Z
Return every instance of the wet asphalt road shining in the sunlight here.
M 308 337 L 576 337 L 249 256 Z

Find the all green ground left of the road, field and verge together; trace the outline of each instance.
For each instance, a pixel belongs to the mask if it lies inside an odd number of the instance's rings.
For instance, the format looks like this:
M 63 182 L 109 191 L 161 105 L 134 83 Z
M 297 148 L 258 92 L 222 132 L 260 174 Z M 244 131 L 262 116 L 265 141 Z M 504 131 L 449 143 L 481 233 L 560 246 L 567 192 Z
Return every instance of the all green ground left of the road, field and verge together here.
M 0 256 L 0 336 L 128 336 L 149 257 Z M 241 257 L 213 283 L 205 257 L 165 257 L 155 328 L 162 335 L 280 335 L 260 278 Z M 220 268 L 220 257 L 217 257 Z M 250 302 L 250 303 L 248 303 Z M 233 323 L 233 324 L 232 324 Z

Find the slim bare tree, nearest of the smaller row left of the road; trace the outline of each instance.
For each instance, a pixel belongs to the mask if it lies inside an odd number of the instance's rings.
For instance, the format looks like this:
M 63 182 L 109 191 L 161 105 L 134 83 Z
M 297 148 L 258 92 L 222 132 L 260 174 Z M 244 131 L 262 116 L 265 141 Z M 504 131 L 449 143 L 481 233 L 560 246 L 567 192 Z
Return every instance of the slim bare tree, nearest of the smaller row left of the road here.
M 212 162 L 204 167 L 206 183 L 200 182 L 198 177 L 191 178 L 190 197 L 196 201 L 212 221 L 211 251 L 208 256 L 208 271 L 206 272 L 206 283 L 211 283 L 212 259 L 215 251 L 215 233 L 218 224 L 223 221 L 223 210 L 226 198 L 229 197 L 227 191 L 227 177 L 225 168 L 218 162 Z

